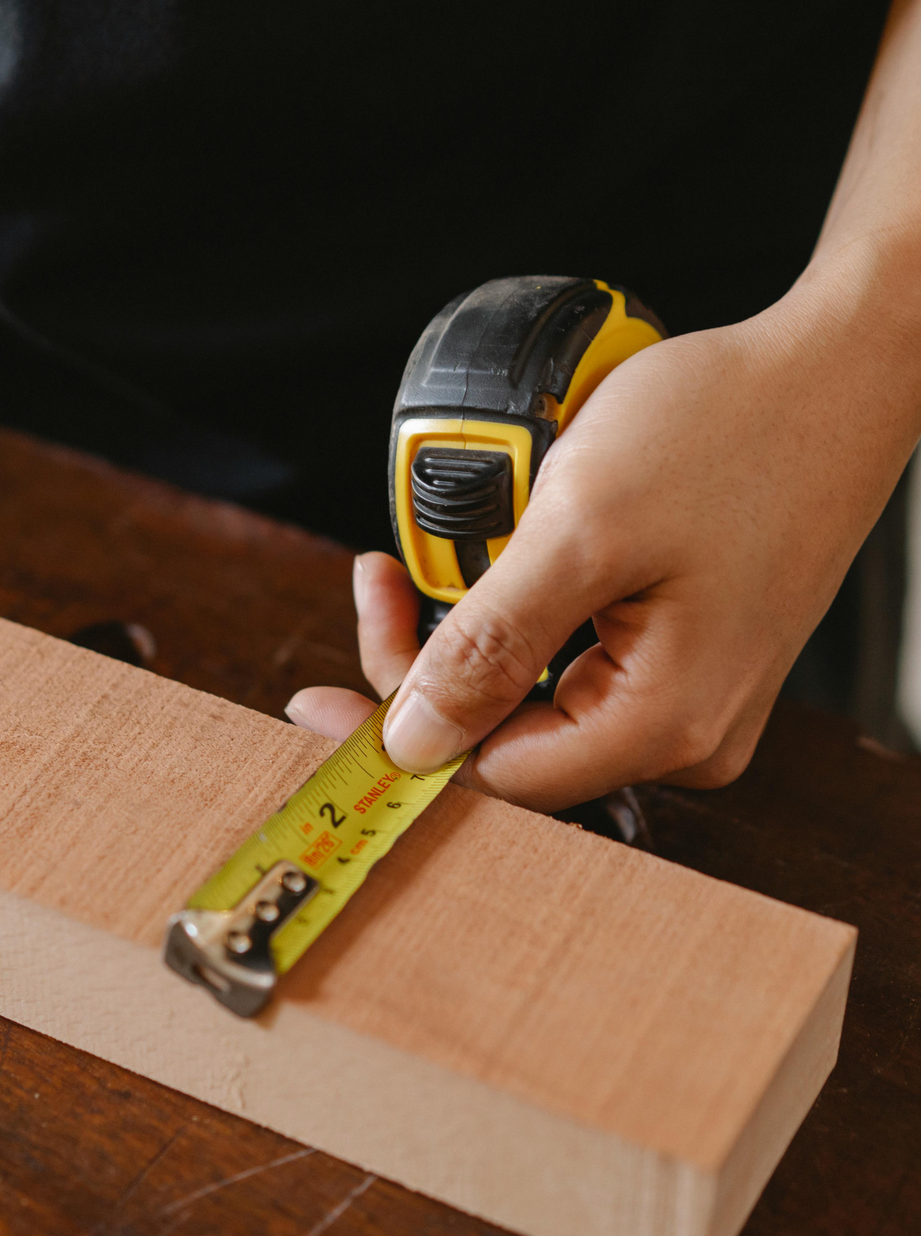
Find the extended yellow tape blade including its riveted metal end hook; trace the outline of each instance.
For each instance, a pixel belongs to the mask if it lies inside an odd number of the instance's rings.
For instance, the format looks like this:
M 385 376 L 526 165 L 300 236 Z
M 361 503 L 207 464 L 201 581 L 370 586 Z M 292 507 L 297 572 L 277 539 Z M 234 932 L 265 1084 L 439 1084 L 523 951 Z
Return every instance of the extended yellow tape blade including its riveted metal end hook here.
M 244 1017 L 265 1007 L 278 976 L 466 759 L 427 776 L 398 769 L 382 738 L 392 700 L 169 920 L 167 965 Z

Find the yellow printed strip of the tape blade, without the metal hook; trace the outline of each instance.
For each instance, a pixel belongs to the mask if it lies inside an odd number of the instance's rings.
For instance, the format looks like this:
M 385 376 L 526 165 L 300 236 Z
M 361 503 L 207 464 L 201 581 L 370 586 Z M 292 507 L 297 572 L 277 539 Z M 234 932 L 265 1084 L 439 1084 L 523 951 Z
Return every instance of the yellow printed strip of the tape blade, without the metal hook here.
M 281 859 L 318 880 L 315 896 L 272 937 L 278 974 L 291 969 L 333 922 L 375 863 L 466 759 L 459 755 L 425 776 L 397 768 L 382 738 L 392 700 L 384 700 L 187 905 L 187 910 L 232 910 Z

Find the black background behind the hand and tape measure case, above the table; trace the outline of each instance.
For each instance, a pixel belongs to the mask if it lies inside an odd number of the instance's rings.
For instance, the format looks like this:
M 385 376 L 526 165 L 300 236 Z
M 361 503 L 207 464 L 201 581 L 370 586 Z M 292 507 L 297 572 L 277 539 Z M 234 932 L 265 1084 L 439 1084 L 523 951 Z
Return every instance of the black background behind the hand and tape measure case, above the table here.
M 0 0 L 0 417 L 391 549 L 429 318 L 512 273 L 624 283 L 673 334 L 770 304 L 885 9 Z M 838 711 L 859 571 L 791 682 Z

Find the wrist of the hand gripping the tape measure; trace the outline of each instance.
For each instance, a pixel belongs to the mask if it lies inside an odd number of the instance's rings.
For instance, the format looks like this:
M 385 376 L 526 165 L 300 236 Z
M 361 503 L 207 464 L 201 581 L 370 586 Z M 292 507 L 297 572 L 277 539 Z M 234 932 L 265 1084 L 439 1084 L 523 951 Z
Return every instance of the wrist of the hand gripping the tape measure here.
M 906 258 L 899 274 L 896 258 L 875 242 L 826 250 L 780 300 L 728 328 L 741 397 L 758 392 L 804 509 L 839 525 L 853 552 L 921 436 L 921 271 Z

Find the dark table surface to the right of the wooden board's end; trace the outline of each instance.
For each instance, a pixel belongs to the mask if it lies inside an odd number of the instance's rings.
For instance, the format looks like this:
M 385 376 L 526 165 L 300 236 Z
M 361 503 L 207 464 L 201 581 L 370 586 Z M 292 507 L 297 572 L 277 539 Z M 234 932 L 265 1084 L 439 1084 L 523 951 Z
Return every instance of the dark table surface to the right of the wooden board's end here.
M 781 701 L 738 782 L 640 798 L 658 853 L 860 931 L 838 1064 L 745 1236 L 921 1230 L 921 759 Z

